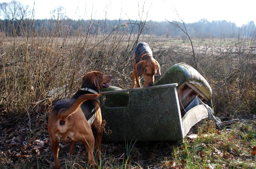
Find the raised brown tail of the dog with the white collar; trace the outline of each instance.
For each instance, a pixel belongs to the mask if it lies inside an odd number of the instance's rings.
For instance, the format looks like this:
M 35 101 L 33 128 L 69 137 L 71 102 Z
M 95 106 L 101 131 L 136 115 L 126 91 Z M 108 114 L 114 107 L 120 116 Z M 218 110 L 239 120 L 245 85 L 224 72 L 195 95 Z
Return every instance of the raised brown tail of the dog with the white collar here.
M 95 99 L 99 96 L 100 94 L 83 94 L 77 97 L 77 99 L 72 103 L 72 105 L 58 112 L 57 119 L 62 119 L 69 116 L 74 111 L 76 111 L 84 101 Z

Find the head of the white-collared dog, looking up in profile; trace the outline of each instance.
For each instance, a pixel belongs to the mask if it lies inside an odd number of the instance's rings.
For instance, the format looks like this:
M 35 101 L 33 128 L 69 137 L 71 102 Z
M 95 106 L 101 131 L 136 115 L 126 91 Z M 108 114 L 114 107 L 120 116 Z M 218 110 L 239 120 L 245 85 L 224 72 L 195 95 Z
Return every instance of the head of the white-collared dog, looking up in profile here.
M 82 88 L 96 87 L 97 90 L 100 91 L 100 89 L 108 88 L 110 86 L 112 78 L 112 75 L 103 75 L 97 71 L 88 72 L 83 77 Z

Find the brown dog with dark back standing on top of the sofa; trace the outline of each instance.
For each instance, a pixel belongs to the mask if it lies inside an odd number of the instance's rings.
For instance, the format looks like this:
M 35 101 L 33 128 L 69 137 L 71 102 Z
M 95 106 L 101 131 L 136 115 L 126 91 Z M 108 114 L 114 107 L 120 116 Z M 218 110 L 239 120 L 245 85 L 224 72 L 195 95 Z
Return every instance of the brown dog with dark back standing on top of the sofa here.
M 132 54 L 132 86 L 135 87 L 137 82 L 137 87 L 140 88 L 140 76 L 144 75 L 144 87 L 154 86 L 154 76 L 155 74 L 161 76 L 160 65 L 153 58 L 153 53 L 147 43 L 139 43 Z

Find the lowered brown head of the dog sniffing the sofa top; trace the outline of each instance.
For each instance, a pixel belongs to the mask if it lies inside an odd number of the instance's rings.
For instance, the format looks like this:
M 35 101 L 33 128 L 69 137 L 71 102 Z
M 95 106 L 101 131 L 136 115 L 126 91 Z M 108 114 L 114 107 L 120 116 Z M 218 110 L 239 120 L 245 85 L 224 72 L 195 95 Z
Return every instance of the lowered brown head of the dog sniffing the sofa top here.
M 155 74 L 161 76 L 160 65 L 155 59 L 145 59 L 136 64 L 139 76 L 144 75 L 144 87 L 154 86 Z

